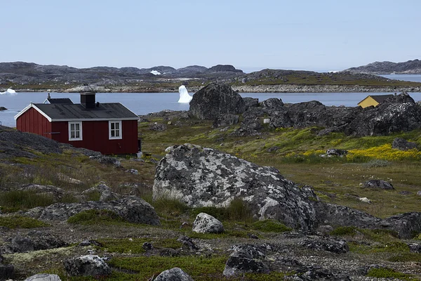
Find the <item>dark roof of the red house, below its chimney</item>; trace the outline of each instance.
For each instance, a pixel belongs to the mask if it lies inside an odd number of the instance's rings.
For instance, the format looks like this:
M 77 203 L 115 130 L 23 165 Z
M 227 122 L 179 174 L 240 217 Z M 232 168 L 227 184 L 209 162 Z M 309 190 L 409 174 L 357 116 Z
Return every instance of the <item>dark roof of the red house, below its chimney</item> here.
M 34 106 L 48 115 L 53 121 L 69 119 L 138 119 L 131 110 L 121 103 L 99 103 L 94 108 L 85 108 L 81 104 L 34 103 Z

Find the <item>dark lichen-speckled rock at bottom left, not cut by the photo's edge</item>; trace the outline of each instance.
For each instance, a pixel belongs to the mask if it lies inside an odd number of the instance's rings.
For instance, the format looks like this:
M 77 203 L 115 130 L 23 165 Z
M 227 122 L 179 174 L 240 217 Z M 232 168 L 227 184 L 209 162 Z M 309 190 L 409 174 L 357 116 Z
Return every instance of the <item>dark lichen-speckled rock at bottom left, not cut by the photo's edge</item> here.
M 87 255 L 67 259 L 64 262 L 65 270 L 69 276 L 108 276 L 111 268 L 99 256 Z

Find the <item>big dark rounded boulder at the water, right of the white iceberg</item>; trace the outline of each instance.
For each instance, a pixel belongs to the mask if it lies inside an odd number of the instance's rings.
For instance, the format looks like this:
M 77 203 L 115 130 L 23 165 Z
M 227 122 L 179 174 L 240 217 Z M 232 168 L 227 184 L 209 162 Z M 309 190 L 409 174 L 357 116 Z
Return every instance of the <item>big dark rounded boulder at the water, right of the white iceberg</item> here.
M 221 114 L 241 114 L 246 110 L 243 98 L 226 84 L 209 84 L 197 91 L 190 101 L 190 114 L 213 120 Z

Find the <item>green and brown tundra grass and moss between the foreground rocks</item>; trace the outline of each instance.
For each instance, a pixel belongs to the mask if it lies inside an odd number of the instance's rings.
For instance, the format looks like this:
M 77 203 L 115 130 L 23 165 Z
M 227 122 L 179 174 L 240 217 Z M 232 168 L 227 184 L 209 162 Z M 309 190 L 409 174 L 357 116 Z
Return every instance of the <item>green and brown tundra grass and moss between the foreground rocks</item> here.
M 147 200 L 159 214 L 161 226 L 126 223 L 111 211 L 84 211 L 72 216 L 67 226 L 77 233 L 96 237 L 98 245 L 92 250 L 98 255 L 111 256 L 109 264 L 113 273 L 107 280 L 150 280 L 162 270 L 178 266 L 194 280 L 282 280 L 294 272 L 270 274 L 246 274 L 227 279 L 222 271 L 229 253 L 215 249 L 212 254 L 188 256 L 154 256 L 153 259 L 142 248 L 143 242 L 151 242 L 154 248 L 178 249 L 182 247 L 177 238 L 187 235 L 203 243 L 229 244 L 250 243 L 248 235 L 257 236 L 261 242 L 270 242 L 276 235 L 290 231 L 279 221 L 253 221 L 253 214 L 241 200 L 234 200 L 226 208 L 190 208 L 171 198 L 152 200 L 152 185 L 156 161 L 165 155 L 171 145 L 193 143 L 214 148 L 236 157 L 264 166 L 274 166 L 280 173 L 299 186 L 312 185 L 316 195 L 324 202 L 353 207 L 369 214 L 385 218 L 408 211 L 421 211 L 421 152 L 418 150 L 395 150 L 392 141 L 405 138 L 421 146 L 421 130 L 394 133 L 390 136 L 355 137 L 342 133 L 317 136 L 320 128 L 269 129 L 262 136 L 234 137 L 227 131 L 213 129 L 211 122 L 188 119 L 182 126 L 174 124 L 176 119 L 156 117 L 151 122 L 166 124 L 165 131 L 151 131 L 150 122 L 139 125 L 142 136 L 143 161 L 131 157 L 121 159 L 124 167 L 100 164 L 80 152 L 65 150 L 62 154 L 45 155 L 32 151 L 37 157 L 9 159 L 0 163 L 0 209 L 7 216 L 0 218 L 0 226 L 13 229 L 51 228 L 41 221 L 15 216 L 13 212 L 52 202 L 78 202 L 77 197 L 67 195 L 55 199 L 49 195 L 36 195 L 28 191 L 16 191 L 13 187 L 26 183 L 55 185 L 68 191 L 81 192 L 104 181 L 112 191 L 131 194 L 131 185 L 139 185 L 137 195 Z M 277 150 L 269 148 L 277 147 Z M 348 150 L 346 157 L 319 157 L 328 148 Z M 269 152 L 272 151 L 272 152 Z M 13 163 L 13 165 L 11 165 Z M 138 175 L 126 173 L 126 169 L 137 169 Z M 25 174 L 26 176 L 22 176 Z M 81 184 L 69 183 L 65 174 L 80 180 Z M 382 179 L 394 185 L 395 190 L 373 190 L 362 188 L 361 183 L 369 179 Z M 98 194 L 89 195 L 90 200 L 99 200 Z M 358 197 L 368 197 L 371 204 L 360 202 Z M 222 221 L 225 233 L 201 234 L 192 232 L 196 214 L 206 212 Z M 183 223 L 187 225 L 182 227 Z M 352 255 L 366 256 L 364 259 L 387 263 L 420 263 L 421 254 L 410 252 L 406 241 L 396 233 L 385 230 L 359 228 L 336 228 L 331 234 L 345 237 Z M 415 241 L 421 240 L 414 233 Z M 0 239 L 0 244 L 4 242 Z M 80 241 L 79 241 L 80 242 Z M 420 241 L 418 241 L 420 242 Z M 20 277 L 45 272 L 60 275 L 62 280 L 96 280 L 93 277 L 67 277 L 60 260 L 80 254 L 77 243 L 69 247 L 34 251 L 24 254 L 6 254 L 6 263 L 12 263 Z M 85 252 L 86 253 L 86 252 Z M 52 257 L 51 257 L 52 256 Z M 370 277 L 395 277 L 401 280 L 420 280 L 415 275 L 401 273 L 393 268 L 372 268 Z

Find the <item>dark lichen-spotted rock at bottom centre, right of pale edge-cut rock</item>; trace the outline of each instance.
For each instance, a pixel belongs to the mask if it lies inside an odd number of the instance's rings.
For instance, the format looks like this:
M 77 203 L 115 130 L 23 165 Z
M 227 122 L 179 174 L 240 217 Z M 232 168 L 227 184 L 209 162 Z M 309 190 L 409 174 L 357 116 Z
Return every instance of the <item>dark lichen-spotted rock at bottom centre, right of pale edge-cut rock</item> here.
M 269 268 L 264 262 L 265 254 L 253 245 L 238 247 L 225 263 L 224 272 L 226 277 L 241 273 L 269 273 Z

